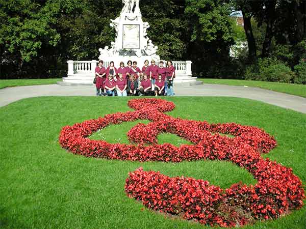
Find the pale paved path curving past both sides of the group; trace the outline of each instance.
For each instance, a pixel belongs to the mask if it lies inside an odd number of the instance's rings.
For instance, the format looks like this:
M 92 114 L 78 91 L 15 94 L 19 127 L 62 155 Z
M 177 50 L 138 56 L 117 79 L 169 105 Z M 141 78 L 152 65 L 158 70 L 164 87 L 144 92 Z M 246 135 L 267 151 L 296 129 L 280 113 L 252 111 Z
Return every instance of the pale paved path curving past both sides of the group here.
M 306 113 L 306 98 L 269 90 L 220 84 L 175 85 L 176 96 L 229 96 L 258 100 Z M 95 96 L 94 86 L 58 84 L 23 86 L 0 90 L 0 106 L 38 96 Z

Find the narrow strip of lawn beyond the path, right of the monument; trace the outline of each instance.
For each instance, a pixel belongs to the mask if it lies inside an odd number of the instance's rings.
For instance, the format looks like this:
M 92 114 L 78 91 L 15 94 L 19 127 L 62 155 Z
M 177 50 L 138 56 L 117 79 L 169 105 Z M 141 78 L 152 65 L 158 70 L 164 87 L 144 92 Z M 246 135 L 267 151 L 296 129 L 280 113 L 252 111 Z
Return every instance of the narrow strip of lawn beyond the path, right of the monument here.
M 263 82 L 254 80 L 239 80 L 239 79 L 201 79 L 203 83 L 226 84 L 234 86 L 247 86 L 254 88 L 262 88 L 275 92 L 282 92 L 291 95 L 306 97 L 306 85 L 293 83 L 278 83 L 278 82 Z

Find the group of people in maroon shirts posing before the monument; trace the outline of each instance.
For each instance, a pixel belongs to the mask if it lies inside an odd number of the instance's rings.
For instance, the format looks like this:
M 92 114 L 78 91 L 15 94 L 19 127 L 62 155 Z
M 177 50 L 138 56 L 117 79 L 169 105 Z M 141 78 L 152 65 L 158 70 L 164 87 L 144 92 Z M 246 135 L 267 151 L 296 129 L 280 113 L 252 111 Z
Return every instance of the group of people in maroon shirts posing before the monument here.
M 154 60 L 145 60 L 140 70 L 137 62 L 127 62 L 124 66 L 116 68 L 114 62 L 105 68 L 104 62 L 99 61 L 95 68 L 96 95 L 97 96 L 173 96 L 173 79 L 175 68 L 171 61 L 160 61 L 159 66 Z

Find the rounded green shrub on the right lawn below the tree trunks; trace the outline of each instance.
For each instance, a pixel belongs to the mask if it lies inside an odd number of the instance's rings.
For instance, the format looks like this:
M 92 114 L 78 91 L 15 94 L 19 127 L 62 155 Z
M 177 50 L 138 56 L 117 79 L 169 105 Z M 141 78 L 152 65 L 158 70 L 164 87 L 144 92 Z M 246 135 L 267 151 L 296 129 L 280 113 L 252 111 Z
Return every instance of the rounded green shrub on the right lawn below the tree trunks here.
M 245 79 L 271 81 L 271 82 L 291 82 L 294 78 L 291 68 L 275 58 L 259 59 L 246 69 Z

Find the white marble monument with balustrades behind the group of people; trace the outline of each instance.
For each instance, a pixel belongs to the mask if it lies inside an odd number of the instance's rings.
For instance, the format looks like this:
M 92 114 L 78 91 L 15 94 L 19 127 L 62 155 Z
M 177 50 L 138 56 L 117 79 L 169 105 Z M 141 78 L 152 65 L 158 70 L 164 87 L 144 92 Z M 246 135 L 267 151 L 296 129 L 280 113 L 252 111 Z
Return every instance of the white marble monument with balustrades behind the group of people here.
M 99 60 L 104 61 L 108 67 L 113 61 L 116 67 L 123 61 L 137 61 L 138 67 L 142 67 L 145 60 L 149 63 L 155 60 L 159 65 L 160 56 L 157 54 L 158 46 L 147 36 L 148 22 L 142 21 L 139 9 L 139 0 L 122 0 L 124 4 L 120 15 L 111 20 L 110 26 L 116 31 L 116 39 L 109 46 L 99 48 Z M 165 62 L 165 61 L 164 61 Z M 68 62 L 67 77 L 59 82 L 64 85 L 92 84 L 95 77 L 97 60 Z M 175 68 L 175 83 L 196 83 L 196 77 L 192 77 L 191 61 L 173 61 Z

